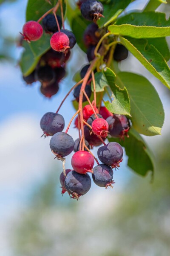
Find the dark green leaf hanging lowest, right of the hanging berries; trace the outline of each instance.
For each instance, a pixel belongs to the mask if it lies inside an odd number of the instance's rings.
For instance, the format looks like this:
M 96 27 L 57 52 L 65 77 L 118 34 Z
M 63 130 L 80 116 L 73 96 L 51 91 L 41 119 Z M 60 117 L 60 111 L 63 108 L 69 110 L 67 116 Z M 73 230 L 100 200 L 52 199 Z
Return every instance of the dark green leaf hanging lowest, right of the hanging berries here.
M 148 172 L 154 172 L 154 157 L 142 137 L 133 128 L 128 132 L 129 138 L 125 140 L 108 138 L 109 142 L 114 141 L 125 148 L 128 156 L 127 165 L 139 175 L 145 176 Z

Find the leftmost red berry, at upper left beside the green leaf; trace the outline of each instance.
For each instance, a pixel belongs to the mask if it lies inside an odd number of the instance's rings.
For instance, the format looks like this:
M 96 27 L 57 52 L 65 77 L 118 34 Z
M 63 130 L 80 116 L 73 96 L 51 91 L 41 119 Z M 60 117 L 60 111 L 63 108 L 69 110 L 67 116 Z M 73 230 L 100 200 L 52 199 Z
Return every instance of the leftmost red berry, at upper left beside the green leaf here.
M 42 26 L 34 20 L 30 20 L 23 26 L 24 40 L 37 41 L 43 34 Z

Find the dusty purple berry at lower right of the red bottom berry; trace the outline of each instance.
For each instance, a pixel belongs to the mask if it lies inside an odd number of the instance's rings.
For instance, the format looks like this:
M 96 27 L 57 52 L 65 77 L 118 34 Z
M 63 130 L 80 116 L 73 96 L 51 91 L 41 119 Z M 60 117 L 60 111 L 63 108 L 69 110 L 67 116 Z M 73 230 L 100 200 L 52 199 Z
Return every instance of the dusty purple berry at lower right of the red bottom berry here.
M 113 170 L 111 166 L 104 163 L 95 166 L 93 169 L 92 178 L 97 186 L 105 187 L 106 189 L 108 186 L 113 187 Z

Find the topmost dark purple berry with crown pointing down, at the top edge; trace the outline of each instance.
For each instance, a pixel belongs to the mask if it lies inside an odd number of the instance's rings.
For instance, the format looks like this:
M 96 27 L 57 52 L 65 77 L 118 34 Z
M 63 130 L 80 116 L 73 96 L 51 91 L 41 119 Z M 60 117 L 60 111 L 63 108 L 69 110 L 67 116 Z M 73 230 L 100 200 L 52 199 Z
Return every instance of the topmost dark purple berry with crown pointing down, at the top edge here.
M 80 10 L 86 20 L 96 21 L 102 17 L 103 5 L 96 0 L 87 0 L 82 3 Z

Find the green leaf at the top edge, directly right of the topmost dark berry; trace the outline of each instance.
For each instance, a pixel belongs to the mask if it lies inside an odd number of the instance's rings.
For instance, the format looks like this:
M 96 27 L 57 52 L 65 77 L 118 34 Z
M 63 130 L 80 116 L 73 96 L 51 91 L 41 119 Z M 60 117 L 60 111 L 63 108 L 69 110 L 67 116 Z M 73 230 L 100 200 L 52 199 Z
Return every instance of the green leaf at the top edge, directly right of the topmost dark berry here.
M 131 0 L 111 0 L 109 3 L 102 3 L 104 12 L 103 15 L 105 16 L 104 18 L 101 17 L 100 20 L 98 20 L 98 25 L 99 27 L 102 27 L 105 25 L 105 23 L 108 24 L 108 21 L 113 20 L 114 17 L 116 17 L 116 13 L 118 14 L 121 12 L 123 9 L 125 9 Z

